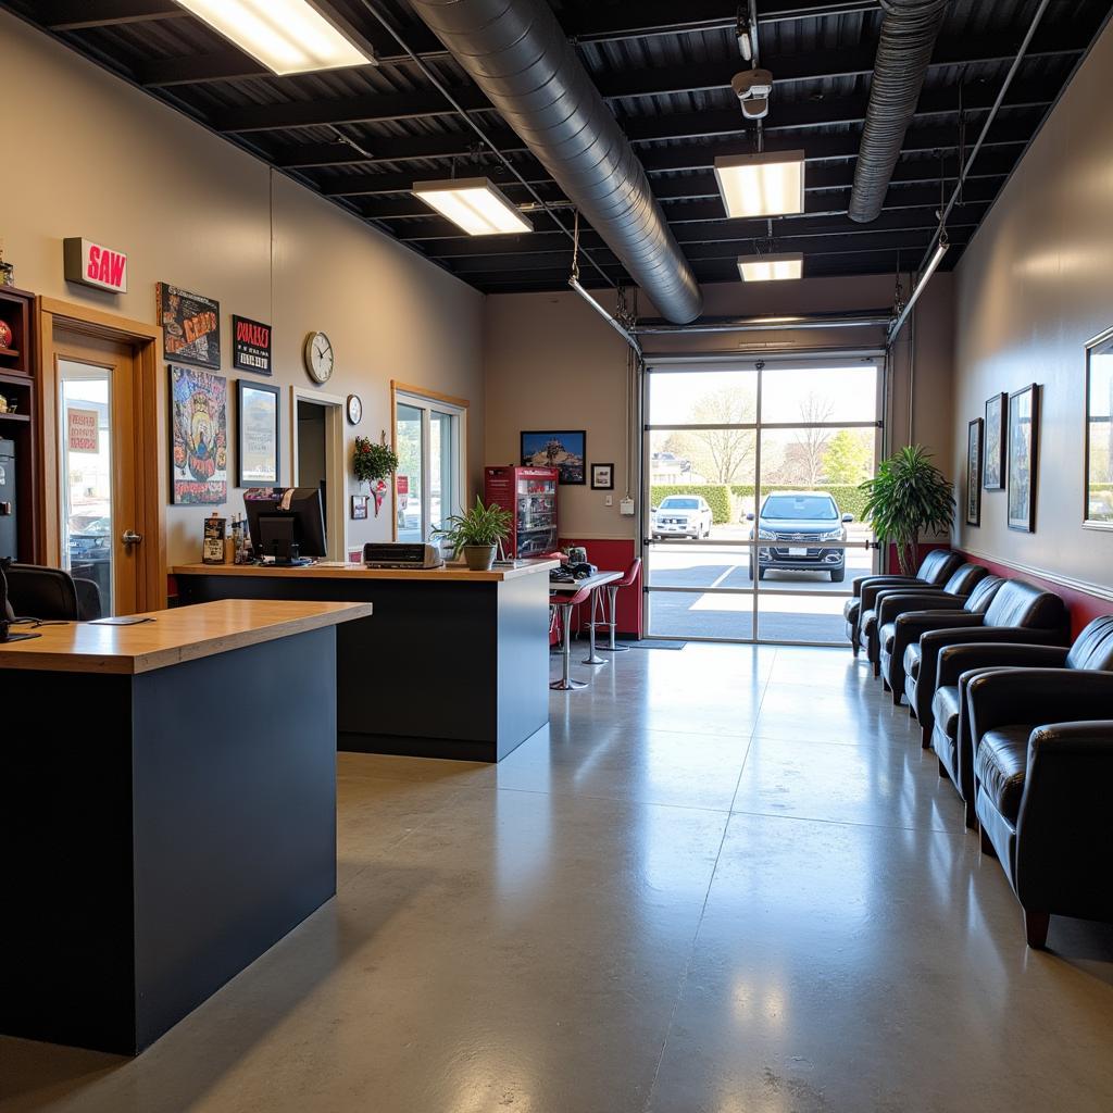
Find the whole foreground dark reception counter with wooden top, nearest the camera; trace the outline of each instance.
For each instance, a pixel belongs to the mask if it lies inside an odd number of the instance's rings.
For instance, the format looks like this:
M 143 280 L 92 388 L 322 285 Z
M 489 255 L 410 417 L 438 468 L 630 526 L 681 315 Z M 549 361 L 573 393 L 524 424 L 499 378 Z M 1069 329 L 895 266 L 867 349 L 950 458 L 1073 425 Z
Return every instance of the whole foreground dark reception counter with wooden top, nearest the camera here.
M 336 633 L 226 601 L 0 643 L 0 1033 L 135 1054 L 336 892 Z

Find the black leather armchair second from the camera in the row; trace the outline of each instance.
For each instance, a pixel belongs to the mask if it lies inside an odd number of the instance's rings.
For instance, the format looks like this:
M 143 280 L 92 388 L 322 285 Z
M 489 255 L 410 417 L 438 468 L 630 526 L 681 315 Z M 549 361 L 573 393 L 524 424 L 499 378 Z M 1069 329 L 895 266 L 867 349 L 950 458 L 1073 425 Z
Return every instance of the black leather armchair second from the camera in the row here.
M 1003 642 L 948 646 L 939 653 L 932 700 L 932 749 L 939 772 L 951 778 L 966 804 L 966 826 L 976 826 L 974 812 L 974 752 L 966 691 L 971 680 L 989 669 L 1052 668 L 1113 672 L 1113 615 L 1094 619 L 1074 639 L 1061 646 L 1016 646 Z M 1113 712 L 1113 708 L 1111 708 Z

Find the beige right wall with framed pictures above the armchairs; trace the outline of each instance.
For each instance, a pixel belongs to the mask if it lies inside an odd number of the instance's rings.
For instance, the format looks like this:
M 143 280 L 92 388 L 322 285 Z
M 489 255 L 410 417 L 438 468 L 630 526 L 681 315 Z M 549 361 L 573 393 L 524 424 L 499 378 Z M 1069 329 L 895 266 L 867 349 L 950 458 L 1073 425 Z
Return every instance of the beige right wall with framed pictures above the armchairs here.
M 1099 39 L 957 268 L 954 466 L 997 391 L 1042 387 L 1036 532 L 983 494 L 971 552 L 1110 593 L 1113 533 L 1082 528 L 1084 352 L 1113 324 L 1113 26 Z M 1111 595 L 1113 598 L 1113 595 Z

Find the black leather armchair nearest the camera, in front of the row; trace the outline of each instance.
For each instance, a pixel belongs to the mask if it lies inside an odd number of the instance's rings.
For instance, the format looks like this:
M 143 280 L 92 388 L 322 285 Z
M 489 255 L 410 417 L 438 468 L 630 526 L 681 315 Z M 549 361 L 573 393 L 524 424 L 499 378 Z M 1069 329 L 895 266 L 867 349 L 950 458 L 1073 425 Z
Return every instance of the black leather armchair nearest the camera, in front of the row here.
M 1001 859 L 1028 946 L 1045 945 L 1053 914 L 1113 919 L 1113 720 L 1100 718 L 1113 673 L 995 669 L 967 703 L 982 849 Z

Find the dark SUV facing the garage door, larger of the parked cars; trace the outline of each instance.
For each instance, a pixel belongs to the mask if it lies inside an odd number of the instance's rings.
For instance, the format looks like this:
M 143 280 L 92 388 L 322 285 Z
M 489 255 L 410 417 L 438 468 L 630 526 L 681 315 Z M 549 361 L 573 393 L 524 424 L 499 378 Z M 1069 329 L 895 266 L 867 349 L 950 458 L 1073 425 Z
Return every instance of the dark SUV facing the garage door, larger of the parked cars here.
M 746 515 L 754 521 L 752 514 Z M 846 550 L 825 541 L 846 541 L 846 526 L 853 514 L 840 514 L 827 491 L 772 491 L 766 495 L 751 540 L 772 541 L 750 551 L 750 579 L 755 558 L 758 579 L 770 569 L 790 572 L 828 572 L 833 583 L 846 579 Z

